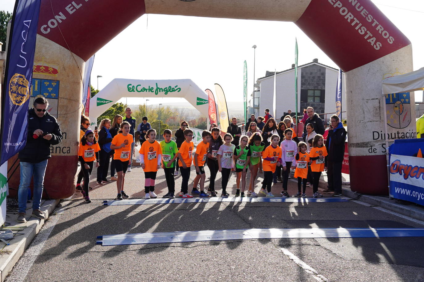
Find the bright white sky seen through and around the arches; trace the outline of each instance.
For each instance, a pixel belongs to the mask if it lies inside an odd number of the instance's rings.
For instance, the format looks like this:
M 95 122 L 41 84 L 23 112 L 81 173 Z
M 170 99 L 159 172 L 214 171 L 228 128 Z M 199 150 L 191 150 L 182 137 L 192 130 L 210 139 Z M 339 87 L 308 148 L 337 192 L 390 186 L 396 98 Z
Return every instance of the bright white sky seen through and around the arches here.
M 422 0 L 371 0 L 410 39 L 413 45 L 413 69 L 424 67 Z M 0 10 L 13 11 L 14 0 L 1 0 Z M 95 56 L 92 85 L 101 90 L 114 78 L 182 79 L 190 78 L 201 89 L 222 86 L 228 104 L 243 101 L 243 61 L 247 61 L 248 93 L 254 79 L 266 70 L 286 70 L 294 63 L 295 38 L 298 64 L 317 58 L 322 64 L 338 68 L 294 23 L 215 19 L 145 14 L 129 25 Z M 254 49 L 257 45 L 254 73 Z M 171 100 L 175 99 L 175 100 Z M 163 103 L 150 98 L 149 104 Z M 169 102 L 182 102 L 167 98 Z M 422 91 L 416 92 L 416 101 Z M 143 98 L 122 100 L 141 104 Z

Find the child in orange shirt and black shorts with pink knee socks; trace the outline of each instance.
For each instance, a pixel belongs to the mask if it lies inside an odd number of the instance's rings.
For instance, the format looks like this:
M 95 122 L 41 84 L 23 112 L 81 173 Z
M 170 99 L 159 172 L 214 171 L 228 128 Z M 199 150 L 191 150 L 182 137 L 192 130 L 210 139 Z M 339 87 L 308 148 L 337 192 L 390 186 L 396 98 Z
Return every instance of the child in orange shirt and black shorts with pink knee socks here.
M 144 170 L 145 199 L 157 198 L 155 191 L 156 173 L 161 165 L 162 149 L 156 140 L 156 130 L 150 128 L 146 132 L 146 141 L 140 148 L 140 163 Z

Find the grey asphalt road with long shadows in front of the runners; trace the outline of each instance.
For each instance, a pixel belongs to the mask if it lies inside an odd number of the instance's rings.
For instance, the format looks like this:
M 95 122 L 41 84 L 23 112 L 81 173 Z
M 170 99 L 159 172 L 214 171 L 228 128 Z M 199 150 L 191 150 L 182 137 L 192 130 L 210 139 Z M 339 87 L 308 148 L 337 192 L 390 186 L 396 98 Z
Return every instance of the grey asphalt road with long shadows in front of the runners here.
M 209 171 L 206 169 L 207 175 Z M 192 170 L 191 179 L 195 176 Z M 259 186 L 262 176 L 257 180 Z M 92 176 L 92 179 L 95 179 Z M 220 176 L 217 185 L 220 187 Z M 144 196 L 144 175 L 126 175 L 131 198 Z M 289 192 L 297 183 L 289 181 Z M 176 187 L 181 176 L 176 177 Z M 91 204 L 78 193 L 62 201 L 7 282 L 33 281 L 373 281 L 424 282 L 420 237 L 226 240 L 99 246 L 96 236 L 249 228 L 420 227 L 357 201 L 340 203 L 192 203 L 103 206 L 116 185 L 95 185 Z M 156 193 L 167 192 L 158 173 Z M 189 186 L 191 188 L 191 185 Z M 229 187 L 235 192 L 235 174 Z M 178 190 L 178 189 L 176 189 Z M 189 189 L 190 191 L 191 189 Z M 217 188 L 220 190 L 220 188 Z M 258 190 L 258 188 L 256 189 Z M 231 191 L 231 190 L 229 190 Z M 273 185 L 279 195 L 281 184 Z M 307 194 L 312 195 L 312 188 Z

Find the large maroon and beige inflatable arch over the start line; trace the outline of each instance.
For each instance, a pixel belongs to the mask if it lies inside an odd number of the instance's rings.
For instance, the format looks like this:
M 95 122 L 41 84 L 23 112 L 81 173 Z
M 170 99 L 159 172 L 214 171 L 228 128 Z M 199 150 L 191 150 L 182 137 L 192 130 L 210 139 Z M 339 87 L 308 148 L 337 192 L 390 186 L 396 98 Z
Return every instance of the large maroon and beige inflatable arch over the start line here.
M 60 82 L 58 119 L 67 133 L 66 149 L 49 160 L 50 197 L 75 189 L 84 62 L 145 13 L 295 22 L 346 73 L 352 190 L 387 194 L 383 103 L 404 109 L 388 116 L 389 138 L 413 137 L 414 97 L 382 98 L 382 79 L 413 70 L 412 46 L 370 0 L 42 0 L 35 61 L 58 69 L 33 78 Z

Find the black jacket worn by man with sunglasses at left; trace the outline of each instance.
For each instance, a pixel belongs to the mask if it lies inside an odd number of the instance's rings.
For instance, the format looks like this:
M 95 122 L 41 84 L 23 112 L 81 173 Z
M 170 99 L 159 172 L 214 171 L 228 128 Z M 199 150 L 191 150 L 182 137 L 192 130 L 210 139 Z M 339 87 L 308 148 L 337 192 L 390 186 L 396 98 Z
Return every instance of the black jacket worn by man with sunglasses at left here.
M 42 136 L 34 139 L 34 131 L 41 129 L 43 134 L 50 133 L 52 139 L 46 140 Z M 38 117 L 34 109 L 28 110 L 28 133 L 25 147 L 19 152 L 21 162 L 31 162 L 33 164 L 50 159 L 50 146 L 59 144 L 62 141 L 60 126 L 55 117 L 45 112 L 43 117 Z

